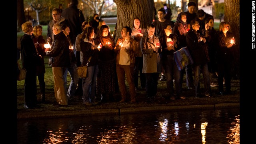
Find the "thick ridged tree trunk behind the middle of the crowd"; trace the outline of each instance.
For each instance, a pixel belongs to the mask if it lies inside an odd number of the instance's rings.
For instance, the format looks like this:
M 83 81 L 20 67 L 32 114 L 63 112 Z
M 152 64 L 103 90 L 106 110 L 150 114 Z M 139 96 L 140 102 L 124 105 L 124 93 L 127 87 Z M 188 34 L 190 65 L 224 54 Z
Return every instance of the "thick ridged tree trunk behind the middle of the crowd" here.
M 121 37 L 123 26 L 133 26 L 133 19 L 140 18 L 140 26 L 147 28 L 152 23 L 154 0 L 114 0 L 116 3 L 117 27 L 115 41 Z

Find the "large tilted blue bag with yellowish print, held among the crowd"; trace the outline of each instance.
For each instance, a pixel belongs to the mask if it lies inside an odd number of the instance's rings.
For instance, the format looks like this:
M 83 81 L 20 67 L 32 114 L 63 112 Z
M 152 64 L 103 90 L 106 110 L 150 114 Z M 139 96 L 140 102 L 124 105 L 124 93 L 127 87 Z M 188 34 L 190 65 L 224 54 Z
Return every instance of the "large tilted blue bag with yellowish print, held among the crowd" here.
M 183 70 L 189 64 L 193 64 L 194 61 L 188 51 L 188 47 L 183 47 L 180 50 L 177 50 L 174 54 L 174 60 L 177 64 L 179 70 Z

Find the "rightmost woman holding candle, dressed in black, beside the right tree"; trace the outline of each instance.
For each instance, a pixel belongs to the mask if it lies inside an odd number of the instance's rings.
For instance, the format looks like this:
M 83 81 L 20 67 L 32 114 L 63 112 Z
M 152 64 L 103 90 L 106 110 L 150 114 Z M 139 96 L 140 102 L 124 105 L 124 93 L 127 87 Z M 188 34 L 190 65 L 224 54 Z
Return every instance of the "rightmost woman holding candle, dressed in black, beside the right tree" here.
M 232 65 L 232 47 L 234 46 L 234 35 L 230 30 L 230 25 L 227 22 L 220 22 L 220 32 L 217 34 L 217 53 L 216 61 L 218 67 L 218 85 L 220 95 L 224 95 L 223 78 L 225 78 L 226 92 L 231 94 L 231 65 Z

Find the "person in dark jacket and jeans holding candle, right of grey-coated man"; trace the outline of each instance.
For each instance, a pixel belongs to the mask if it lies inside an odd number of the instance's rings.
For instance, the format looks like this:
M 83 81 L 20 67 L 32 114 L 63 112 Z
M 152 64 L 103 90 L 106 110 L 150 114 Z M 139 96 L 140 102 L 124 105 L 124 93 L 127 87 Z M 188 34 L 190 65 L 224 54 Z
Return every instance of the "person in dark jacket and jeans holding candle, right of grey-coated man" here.
M 176 98 L 185 99 L 181 96 L 183 71 L 178 70 L 176 62 L 174 60 L 174 52 L 180 47 L 178 46 L 178 38 L 172 34 L 171 24 L 165 24 L 163 27 L 164 35 L 159 38 L 162 46 L 162 65 L 166 74 L 166 84 L 169 93 L 168 99 L 175 100 Z M 174 77 L 173 77 L 174 76 Z M 173 79 L 175 79 L 176 96 L 174 96 Z

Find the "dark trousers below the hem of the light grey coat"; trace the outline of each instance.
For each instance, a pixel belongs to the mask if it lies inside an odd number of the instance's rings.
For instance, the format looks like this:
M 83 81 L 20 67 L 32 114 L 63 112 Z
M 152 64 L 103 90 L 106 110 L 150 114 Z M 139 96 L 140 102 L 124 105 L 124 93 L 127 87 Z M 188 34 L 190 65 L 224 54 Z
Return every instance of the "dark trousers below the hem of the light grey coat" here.
M 159 73 L 145 73 L 146 76 L 146 97 L 156 96 Z

